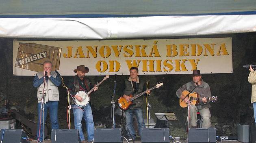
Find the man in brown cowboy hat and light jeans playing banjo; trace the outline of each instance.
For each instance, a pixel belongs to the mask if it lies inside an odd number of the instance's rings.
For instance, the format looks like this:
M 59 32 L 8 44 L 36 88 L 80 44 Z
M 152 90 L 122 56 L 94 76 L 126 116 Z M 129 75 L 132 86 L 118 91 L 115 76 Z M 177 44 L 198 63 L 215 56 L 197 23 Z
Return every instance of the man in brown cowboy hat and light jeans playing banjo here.
M 91 89 L 90 82 L 87 79 L 85 79 L 85 74 L 89 72 L 89 68 L 85 67 L 85 65 L 79 65 L 77 66 L 77 69 L 74 69 L 74 72 L 76 73 L 76 76 L 73 76 L 68 83 L 69 92 L 71 96 L 76 98 L 78 101 L 82 101 L 83 99 L 80 96 L 76 95 L 76 93 L 78 91 L 88 92 Z M 98 90 L 98 87 L 94 85 L 93 90 Z M 92 142 L 94 136 L 94 122 L 91 111 L 91 105 L 87 104 L 84 107 L 79 107 L 76 104 L 74 104 L 74 101 L 72 101 L 72 110 L 74 114 L 74 126 L 76 129 L 79 130 L 81 143 L 85 143 L 85 136 L 82 132 L 81 123 L 83 117 L 85 119 L 87 128 L 87 142 Z

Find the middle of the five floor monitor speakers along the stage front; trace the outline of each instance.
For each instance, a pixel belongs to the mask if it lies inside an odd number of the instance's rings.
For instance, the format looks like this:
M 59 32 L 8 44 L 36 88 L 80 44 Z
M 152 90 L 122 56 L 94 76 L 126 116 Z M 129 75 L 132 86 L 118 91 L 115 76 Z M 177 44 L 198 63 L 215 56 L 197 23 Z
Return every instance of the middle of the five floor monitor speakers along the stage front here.
M 121 143 L 121 128 L 96 128 L 93 143 Z

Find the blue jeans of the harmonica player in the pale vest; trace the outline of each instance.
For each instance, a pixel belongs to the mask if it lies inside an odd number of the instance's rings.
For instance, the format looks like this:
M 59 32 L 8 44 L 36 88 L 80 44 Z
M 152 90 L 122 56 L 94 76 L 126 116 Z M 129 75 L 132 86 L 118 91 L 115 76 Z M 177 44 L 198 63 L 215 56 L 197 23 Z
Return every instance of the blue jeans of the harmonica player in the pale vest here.
M 37 123 L 37 138 L 39 141 L 43 141 L 43 123 L 46 122 L 47 110 L 49 109 L 52 129 L 59 128 L 58 122 L 58 105 L 59 101 L 48 101 L 44 104 L 44 119 L 43 119 L 43 111 L 41 113 L 41 103 L 37 103 L 37 112 L 38 112 L 38 123 Z M 40 124 L 40 116 L 41 116 L 41 124 Z M 39 126 L 40 127 L 40 136 L 39 136 Z M 46 137 L 46 135 L 44 135 Z

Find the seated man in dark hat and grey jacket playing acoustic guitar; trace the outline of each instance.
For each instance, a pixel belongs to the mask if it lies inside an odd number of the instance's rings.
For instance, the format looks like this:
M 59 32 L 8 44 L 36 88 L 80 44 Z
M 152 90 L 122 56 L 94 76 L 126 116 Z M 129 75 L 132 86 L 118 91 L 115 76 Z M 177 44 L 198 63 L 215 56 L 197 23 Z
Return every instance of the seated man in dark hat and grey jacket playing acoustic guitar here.
M 182 98 L 182 92 L 184 90 L 191 91 L 195 88 L 193 92 L 198 93 L 200 97 L 203 97 L 202 100 L 199 101 L 197 106 L 191 105 L 189 107 L 189 127 L 196 126 L 196 118 L 197 118 L 197 111 L 200 112 L 202 117 L 202 127 L 203 128 L 210 128 L 210 101 L 207 101 L 205 97 L 212 97 L 210 94 L 210 86 L 202 79 L 202 75 L 200 70 L 194 69 L 193 70 L 193 81 L 188 82 L 187 84 L 182 85 L 177 91 L 176 95 L 179 98 Z M 185 103 L 188 103 L 188 97 L 184 99 Z

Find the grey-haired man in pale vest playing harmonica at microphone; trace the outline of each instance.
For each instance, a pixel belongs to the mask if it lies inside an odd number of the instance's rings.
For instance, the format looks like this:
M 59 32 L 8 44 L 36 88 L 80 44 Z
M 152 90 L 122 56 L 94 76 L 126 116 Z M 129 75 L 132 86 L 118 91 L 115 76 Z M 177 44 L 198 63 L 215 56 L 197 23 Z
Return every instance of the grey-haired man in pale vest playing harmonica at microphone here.
M 47 72 L 47 73 L 46 73 Z M 49 109 L 52 129 L 59 128 L 58 122 L 58 104 L 59 104 L 59 90 L 61 80 L 52 71 L 52 62 L 43 62 L 43 71 L 36 74 L 33 86 L 37 88 L 37 111 L 38 111 L 38 125 L 37 125 L 37 139 L 38 143 L 43 141 L 43 121 L 46 122 L 47 110 Z M 42 97 L 44 96 L 44 119 L 43 111 L 41 111 Z M 42 121 L 43 120 L 43 121 Z M 39 130 L 40 129 L 40 130 Z M 44 135 L 46 137 L 46 135 Z

